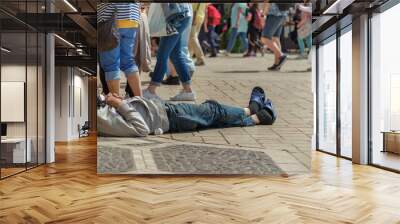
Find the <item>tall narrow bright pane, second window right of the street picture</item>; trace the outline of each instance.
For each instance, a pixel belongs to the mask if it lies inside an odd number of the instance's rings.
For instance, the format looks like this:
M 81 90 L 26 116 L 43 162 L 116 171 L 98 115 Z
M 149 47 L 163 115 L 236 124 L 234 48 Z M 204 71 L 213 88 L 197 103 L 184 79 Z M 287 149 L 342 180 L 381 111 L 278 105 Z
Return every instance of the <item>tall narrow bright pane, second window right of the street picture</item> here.
M 342 156 L 351 158 L 352 141 L 352 35 L 340 36 L 340 121 Z

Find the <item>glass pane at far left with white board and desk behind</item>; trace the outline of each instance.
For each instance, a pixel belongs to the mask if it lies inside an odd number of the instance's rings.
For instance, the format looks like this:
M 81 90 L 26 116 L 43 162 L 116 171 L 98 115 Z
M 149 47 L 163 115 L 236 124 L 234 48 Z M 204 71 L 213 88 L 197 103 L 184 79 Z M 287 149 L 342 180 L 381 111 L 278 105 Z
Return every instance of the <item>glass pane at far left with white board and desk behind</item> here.
M 25 170 L 30 162 L 26 142 L 26 34 L 1 34 L 1 173 L 2 177 Z M 28 150 L 26 150 L 28 149 Z

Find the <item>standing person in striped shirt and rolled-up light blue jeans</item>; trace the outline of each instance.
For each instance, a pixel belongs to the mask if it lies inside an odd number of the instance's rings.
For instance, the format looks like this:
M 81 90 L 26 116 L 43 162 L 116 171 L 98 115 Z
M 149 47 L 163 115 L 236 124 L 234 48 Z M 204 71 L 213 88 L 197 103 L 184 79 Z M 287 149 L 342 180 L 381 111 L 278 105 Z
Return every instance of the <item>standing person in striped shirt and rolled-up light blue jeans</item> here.
M 135 96 L 142 96 L 139 68 L 134 49 L 140 22 L 140 3 L 100 3 L 97 22 L 112 19 L 115 14 L 118 28 L 118 45 L 99 52 L 100 66 L 104 70 L 107 87 L 111 93 L 120 94 L 120 71 L 123 71 Z

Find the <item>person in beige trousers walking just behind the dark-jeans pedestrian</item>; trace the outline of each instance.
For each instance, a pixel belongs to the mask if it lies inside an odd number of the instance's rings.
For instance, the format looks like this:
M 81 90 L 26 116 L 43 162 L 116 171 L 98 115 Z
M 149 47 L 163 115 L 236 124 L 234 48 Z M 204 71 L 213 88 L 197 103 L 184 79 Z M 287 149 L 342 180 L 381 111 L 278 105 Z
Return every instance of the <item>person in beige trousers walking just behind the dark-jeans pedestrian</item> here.
M 190 56 L 195 56 L 196 66 L 205 65 L 204 52 L 199 42 L 199 33 L 205 19 L 206 7 L 207 3 L 192 3 L 193 22 L 189 37 L 189 52 Z

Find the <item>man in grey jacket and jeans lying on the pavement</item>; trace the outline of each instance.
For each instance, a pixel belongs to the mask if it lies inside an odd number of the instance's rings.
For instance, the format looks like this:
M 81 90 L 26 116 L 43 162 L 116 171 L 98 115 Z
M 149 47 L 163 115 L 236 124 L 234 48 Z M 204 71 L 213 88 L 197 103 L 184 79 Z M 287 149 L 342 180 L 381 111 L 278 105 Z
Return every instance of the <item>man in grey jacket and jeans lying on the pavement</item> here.
M 214 100 L 202 104 L 172 104 L 157 99 L 122 99 L 108 94 L 98 108 L 99 136 L 144 137 L 166 132 L 188 132 L 207 128 L 272 125 L 277 117 L 261 87 L 253 88 L 245 108 Z

